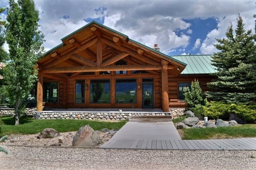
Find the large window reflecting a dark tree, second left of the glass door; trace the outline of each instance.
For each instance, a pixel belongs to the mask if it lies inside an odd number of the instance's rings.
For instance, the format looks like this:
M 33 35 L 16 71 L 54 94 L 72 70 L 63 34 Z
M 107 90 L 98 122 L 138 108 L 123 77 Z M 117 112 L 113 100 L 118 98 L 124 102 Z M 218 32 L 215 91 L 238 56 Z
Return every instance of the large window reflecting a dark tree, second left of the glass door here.
M 91 80 L 90 103 L 110 103 L 109 80 Z

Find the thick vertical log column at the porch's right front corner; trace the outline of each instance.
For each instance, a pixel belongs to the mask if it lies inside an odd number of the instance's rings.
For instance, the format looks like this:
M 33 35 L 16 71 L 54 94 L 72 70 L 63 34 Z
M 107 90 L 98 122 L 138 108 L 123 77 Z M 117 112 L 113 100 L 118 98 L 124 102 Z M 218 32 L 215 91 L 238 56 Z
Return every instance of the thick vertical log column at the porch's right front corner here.
M 169 111 L 168 98 L 168 61 L 162 60 L 162 111 Z

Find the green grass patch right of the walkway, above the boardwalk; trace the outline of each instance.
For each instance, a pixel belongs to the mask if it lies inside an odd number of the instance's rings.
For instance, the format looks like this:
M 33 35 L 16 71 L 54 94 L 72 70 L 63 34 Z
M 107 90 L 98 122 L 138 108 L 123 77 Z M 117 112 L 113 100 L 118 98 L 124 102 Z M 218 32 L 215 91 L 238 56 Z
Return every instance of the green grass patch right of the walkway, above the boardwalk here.
M 222 139 L 239 137 L 256 137 L 256 124 L 244 124 L 238 126 L 182 129 L 182 139 Z

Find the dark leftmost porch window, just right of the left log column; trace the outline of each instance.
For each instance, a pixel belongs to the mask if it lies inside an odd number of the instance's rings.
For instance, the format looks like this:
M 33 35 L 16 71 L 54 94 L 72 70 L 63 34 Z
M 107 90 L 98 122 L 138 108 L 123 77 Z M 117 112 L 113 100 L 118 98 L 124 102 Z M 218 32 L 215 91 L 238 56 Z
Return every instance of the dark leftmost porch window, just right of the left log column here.
M 58 82 L 43 83 L 43 102 L 58 102 Z

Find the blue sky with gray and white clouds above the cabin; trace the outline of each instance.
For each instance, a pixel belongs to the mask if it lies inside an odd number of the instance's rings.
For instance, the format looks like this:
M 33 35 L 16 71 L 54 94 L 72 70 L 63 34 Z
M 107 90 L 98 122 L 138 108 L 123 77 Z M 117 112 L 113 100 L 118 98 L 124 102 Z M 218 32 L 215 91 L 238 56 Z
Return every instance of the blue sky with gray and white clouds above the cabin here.
M 238 13 L 254 29 L 256 0 L 35 0 L 45 50 L 96 20 L 146 46 L 158 44 L 168 55 L 212 54 Z M 0 7 L 8 7 L 1 0 Z M 6 17 L 4 13 L 1 14 Z M 7 49 L 7 45 L 5 45 Z

